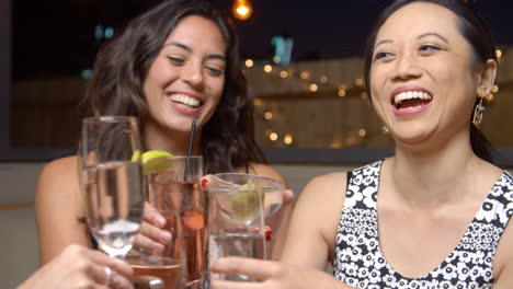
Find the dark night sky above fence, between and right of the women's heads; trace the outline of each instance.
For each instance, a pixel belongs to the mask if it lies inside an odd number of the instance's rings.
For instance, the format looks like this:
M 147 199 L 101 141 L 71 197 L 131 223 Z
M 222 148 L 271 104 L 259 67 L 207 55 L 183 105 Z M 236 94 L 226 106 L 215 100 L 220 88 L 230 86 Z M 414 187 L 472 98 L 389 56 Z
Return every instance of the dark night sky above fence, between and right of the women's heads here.
M 253 0 L 254 16 L 247 23 L 239 22 L 240 37 L 244 51 L 250 55 L 261 55 L 273 35 L 286 32 L 295 39 L 296 59 L 311 51 L 320 58 L 360 56 L 375 18 L 389 2 Z M 470 2 L 489 22 L 499 44 L 513 44 L 513 1 Z

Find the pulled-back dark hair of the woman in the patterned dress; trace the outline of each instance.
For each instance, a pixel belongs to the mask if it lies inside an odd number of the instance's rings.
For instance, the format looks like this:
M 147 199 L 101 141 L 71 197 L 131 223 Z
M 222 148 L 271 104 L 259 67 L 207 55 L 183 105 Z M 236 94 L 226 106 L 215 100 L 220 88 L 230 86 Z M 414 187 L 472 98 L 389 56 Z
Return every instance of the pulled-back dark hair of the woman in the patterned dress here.
M 371 95 L 371 65 L 374 54 L 374 45 L 376 43 L 376 36 L 379 28 L 388 20 L 388 18 L 394 14 L 399 9 L 413 3 L 413 2 L 429 2 L 444 7 L 454 14 L 458 20 L 457 26 L 461 35 L 467 39 L 467 42 L 472 47 L 474 51 L 474 68 L 478 68 L 481 65 L 485 65 L 488 59 L 493 59 L 497 61 L 495 56 L 495 42 L 491 34 L 490 27 L 487 25 L 485 20 L 472 9 L 467 1 L 464 0 L 396 0 L 390 5 L 388 5 L 379 14 L 374 28 L 372 30 L 368 38 L 367 46 L 365 51 L 365 65 L 364 65 L 364 74 L 366 91 Z M 476 97 L 475 105 L 479 102 L 479 99 Z M 474 118 L 474 113 L 470 116 L 470 144 L 472 147 L 474 153 L 479 158 L 494 163 L 493 157 L 495 154 L 492 146 L 485 137 L 482 131 L 477 128 L 471 119 Z

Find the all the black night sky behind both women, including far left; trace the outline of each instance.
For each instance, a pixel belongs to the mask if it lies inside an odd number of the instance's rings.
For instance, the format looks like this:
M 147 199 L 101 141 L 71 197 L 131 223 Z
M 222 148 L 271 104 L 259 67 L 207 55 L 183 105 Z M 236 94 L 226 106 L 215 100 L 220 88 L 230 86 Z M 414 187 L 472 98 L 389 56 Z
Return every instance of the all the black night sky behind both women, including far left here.
M 250 0 L 253 15 L 237 21 L 244 57 L 271 59 L 271 38 L 294 38 L 293 61 L 360 56 L 378 11 L 388 0 Z M 13 1 L 14 80 L 76 74 L 92 66 L 102 41 L 94 27 L 116 32 L 159 0 Z M 233 0 L 210 0 L 230 13 Z M 513 44 L 513 3 L 470 0 L 491 25 L 499 45 Z

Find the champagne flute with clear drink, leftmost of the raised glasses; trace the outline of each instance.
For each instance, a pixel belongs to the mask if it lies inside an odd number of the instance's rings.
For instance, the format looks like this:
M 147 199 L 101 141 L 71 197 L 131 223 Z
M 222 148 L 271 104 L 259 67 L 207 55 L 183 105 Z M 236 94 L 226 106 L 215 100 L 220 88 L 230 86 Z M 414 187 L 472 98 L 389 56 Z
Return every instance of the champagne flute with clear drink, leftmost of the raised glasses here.
M 79 149 L 87 221 L 99 247 L 124 258 L 139 232 L 146 183 L 135 117 L 100 116 L 82 120 Z

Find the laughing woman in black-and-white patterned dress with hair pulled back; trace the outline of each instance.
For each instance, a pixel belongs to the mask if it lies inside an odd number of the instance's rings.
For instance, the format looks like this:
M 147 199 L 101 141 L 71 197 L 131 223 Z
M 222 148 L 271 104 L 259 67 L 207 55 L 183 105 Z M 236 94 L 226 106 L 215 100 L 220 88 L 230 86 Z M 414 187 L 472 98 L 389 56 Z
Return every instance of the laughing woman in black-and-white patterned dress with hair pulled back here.
M 213 288 L 511 288 L 513 177 L 478 128 L 494 51 L 464 1 L 392 1 L 371 34 L 365 73 L 395 157 L 311 181 L 281 263 L 219 259 L 212 271 L 261 282 Z

